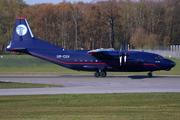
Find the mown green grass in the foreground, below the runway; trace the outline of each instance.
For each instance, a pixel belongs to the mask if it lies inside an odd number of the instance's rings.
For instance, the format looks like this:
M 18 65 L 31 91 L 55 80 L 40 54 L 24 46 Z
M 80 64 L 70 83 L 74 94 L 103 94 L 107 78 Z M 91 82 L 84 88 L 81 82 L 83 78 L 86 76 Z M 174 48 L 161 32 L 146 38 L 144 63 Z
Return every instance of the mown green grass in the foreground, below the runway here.
M 177 120 L 180 93 L 0 96 L 0 119 Z

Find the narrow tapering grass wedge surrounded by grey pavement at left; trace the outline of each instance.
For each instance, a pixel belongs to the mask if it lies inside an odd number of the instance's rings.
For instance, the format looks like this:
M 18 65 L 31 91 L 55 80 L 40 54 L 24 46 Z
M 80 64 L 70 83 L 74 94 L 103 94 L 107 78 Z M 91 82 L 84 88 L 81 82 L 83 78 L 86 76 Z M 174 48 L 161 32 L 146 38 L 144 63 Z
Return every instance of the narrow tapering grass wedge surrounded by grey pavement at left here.
M 32 83 L 14 83 L 14 82 L 0 82 L 0 89 L 9 88 L 44 88 L 44 87 L 62 87 L 54 84 L 32 84 Z

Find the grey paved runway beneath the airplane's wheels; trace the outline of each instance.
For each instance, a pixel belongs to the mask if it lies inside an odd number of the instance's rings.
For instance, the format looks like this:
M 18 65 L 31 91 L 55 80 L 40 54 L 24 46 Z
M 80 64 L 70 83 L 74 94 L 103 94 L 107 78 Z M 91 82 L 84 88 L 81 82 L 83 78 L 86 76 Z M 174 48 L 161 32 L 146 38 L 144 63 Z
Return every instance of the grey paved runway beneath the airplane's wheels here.
M 0 75 L 2 82 L 57 84 L 54 88 L 0 89 L 0 95 L 180 92 L 180 76 Z

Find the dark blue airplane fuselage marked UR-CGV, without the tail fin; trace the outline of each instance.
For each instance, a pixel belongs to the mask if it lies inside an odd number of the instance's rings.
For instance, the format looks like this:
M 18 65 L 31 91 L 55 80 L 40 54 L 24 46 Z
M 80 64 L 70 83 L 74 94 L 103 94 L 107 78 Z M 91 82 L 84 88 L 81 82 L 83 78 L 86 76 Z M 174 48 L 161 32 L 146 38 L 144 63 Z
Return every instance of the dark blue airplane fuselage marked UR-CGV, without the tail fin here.
M 124 52 L 123 52 L 124 53 Z M 170 70 L 175 63 L 169 59 L 165 59 L 157 54 L 128 51 L 126 62 L 122 60 L 122 65 L 119 62 L 119 51 L 106 52 L 102 56 L 93 56 L 87 50 L 29 50 L 29 54 L 41 59 L 53 62 L 55 64 L 78 71 L 123 71 L 123 72 L 142 72 L 142 71 L 157 71 Z M 104 56 L 103 56 L 104 55 Z

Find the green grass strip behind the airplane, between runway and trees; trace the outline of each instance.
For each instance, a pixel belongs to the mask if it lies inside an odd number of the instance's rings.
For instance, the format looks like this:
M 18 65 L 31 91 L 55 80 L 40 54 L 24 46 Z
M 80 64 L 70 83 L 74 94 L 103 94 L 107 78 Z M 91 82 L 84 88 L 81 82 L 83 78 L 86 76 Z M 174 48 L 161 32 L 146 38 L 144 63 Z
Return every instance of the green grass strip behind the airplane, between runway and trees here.
M 180 75 L 180 59 L 172 58 L 176 67 L 171 71 L 155 71 L 153 75 Z M 147 75 L 148 72 L 108 72 L 108 75 Z M 78 72 L 29 56 L 3 55 L 0 58 L 0 74 L 59 74 L 93 75 L 94 72 Z

